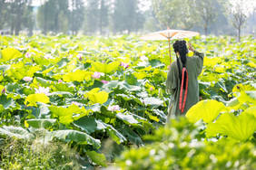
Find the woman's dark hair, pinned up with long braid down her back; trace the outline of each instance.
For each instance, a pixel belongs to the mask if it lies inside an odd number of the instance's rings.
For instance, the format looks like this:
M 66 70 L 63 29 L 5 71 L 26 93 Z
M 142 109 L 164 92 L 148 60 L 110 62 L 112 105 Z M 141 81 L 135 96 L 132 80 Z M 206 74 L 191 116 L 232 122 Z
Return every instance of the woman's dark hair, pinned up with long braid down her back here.
M 181 56 L 181 60 L 182 60 L 182 68 L 185 67 L 185 63 L 186 63 L 186 55 L 187 53 L 189 52 L 188 48 L 187 48 L 187 45 L 186 45 L 186 41 L 176 41 L 173 43 L 173 49 L 174 49 L 174 52 L 179 52 L 180 53 L 180 56 Z M 182 69 L 181 69 L 181 66 L 180 66 L 180 61 L 179 61 L 179 58 L 176 54 L 176 58 L 177 58 L 177 65 L 178 65 L 178 70 L 179 70 L 179 78 L 180 80 L 182 81 Z M 184 84 L 183 84 L 183 89 L 185 89 L 186 87 L 186 77 L 187 77 L 187 74 L 186 72 L 184 73 Z

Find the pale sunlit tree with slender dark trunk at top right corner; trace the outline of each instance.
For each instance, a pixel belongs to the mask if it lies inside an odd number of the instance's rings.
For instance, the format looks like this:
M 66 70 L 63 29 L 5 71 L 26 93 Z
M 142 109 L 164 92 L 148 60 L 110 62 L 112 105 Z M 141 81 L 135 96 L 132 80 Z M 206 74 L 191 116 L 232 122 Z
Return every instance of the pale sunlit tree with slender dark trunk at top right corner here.
M 231 24 L 238 31 L 238 41 L 240 42 L 241 27 L 255 11 L 256 2 L 254 0 L 228 0 L 221 2 L 225 7 L 225 14 L 231 19 Z

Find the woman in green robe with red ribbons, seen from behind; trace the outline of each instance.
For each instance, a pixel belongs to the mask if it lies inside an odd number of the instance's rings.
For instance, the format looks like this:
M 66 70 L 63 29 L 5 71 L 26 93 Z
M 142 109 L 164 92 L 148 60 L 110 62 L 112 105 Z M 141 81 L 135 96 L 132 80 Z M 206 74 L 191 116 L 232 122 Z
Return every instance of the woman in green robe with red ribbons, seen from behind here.
M 191 43 L 188 49 L 185 41 L 176 41 L 173 49 L 177 60 L 172 62 L 166 80 L 167 92 L 171 93 L 166 125 L 171 117 L 185 115 L 199 101 L 197 77 L 203 63 L 203 53 L 196 52 Z M 188 50 L 194 53 L 192 57 L 187 56 Z

